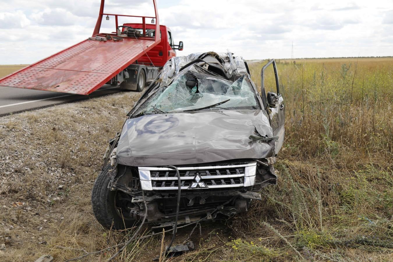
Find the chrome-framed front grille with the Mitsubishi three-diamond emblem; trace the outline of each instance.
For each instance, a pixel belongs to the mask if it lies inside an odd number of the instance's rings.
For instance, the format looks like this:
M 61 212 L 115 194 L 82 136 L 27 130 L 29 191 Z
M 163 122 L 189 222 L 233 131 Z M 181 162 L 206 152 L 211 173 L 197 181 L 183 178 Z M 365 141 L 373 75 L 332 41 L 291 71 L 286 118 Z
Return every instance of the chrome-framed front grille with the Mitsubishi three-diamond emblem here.
M 256 163 L 178 167 L 182 189 L 245 187 L 255 183 Z M 176 170 L 166 167 L 138 167 L 142 189 L 178 189 Z

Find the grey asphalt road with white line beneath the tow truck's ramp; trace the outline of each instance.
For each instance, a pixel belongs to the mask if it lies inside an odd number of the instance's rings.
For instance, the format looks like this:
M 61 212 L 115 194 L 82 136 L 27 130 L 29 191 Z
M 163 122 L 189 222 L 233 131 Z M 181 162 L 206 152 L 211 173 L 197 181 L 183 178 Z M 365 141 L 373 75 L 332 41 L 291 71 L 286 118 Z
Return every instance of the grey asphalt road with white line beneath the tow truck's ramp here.
M 90 95 L 73 95 L 69 93 L 0 86 L 0 116 L 117 92 L 120 92 L 119 88 L 109 85 L 104 85 Z

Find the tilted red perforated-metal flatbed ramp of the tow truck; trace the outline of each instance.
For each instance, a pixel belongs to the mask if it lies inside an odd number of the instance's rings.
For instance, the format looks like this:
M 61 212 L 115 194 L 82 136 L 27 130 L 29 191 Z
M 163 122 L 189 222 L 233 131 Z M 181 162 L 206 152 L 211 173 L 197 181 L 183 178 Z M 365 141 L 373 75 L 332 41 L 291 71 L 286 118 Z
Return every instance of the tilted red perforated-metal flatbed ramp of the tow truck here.
M 159 39 L 84 40 L 0 79 L 0 86 L 88 95 L 153 48 Z

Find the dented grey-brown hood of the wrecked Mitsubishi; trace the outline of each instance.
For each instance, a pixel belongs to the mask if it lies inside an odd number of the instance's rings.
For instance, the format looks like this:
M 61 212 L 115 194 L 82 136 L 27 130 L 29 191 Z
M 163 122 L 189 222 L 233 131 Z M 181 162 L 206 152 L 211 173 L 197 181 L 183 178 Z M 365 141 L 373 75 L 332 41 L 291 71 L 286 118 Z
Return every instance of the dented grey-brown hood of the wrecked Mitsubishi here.
M 274 141 L 251 141 L 250 135 L 273 136 L 264 111 L 144 115 L 125 122 L 116 158 L 140 167 L 273 156 Z

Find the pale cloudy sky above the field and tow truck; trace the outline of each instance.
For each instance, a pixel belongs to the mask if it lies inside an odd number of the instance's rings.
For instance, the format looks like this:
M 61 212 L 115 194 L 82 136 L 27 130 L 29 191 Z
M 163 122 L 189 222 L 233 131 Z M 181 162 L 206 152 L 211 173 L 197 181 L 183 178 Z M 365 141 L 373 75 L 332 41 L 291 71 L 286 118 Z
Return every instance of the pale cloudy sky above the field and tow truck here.
M 152 15 L 150 0 L 107 0 L 107 13 Z M 245 59 L 393 55 L 393 0 L 157 0 L 187 55 Z M 0 64 L 29 64 L 92 34 L 99 0 L 0 0 Z M 121 20 L 119 22 L 136 22 Z M 112 27 L 113 26 L 113 27 Z M 101 32 L 114 31 L 114 19 Z

